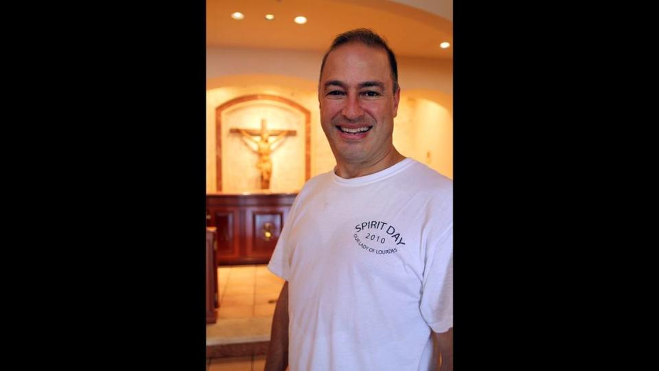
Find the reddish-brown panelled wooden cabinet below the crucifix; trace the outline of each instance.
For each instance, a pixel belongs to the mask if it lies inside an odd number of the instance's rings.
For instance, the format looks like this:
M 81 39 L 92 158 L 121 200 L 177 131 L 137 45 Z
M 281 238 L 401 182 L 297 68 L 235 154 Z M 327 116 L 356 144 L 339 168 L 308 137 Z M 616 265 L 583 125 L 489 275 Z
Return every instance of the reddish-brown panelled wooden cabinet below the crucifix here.
M 266 264 L 295 196 L 207 194 L 207 225 L 217 230 L 217 264 Z

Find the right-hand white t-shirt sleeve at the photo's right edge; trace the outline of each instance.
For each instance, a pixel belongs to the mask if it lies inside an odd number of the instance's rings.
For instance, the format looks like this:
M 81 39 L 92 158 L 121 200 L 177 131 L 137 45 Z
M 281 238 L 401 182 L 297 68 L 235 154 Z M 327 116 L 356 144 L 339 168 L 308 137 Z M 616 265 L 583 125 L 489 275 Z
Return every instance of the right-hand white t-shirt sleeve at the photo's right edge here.
M 435 333 L 453 327 L 453 227 L 426 251 L 421 315 Z

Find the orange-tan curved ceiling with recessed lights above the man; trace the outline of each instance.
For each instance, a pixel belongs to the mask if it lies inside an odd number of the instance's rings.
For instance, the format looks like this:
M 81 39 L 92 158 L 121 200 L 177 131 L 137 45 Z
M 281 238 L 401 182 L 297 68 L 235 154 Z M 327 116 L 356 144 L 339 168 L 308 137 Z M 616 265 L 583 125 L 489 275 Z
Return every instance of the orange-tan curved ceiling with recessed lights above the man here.
M 233 12 L 245 18 L 231 19 Z M 292 21 L 300 15 L 304 25 Z M 206 45 L 324 52 L 337 34 L 367 27 L 397 56 L 452 58 L 452 47 L 439 47 L 452 44 L 451 19 L 452 0 L 207 0 Z

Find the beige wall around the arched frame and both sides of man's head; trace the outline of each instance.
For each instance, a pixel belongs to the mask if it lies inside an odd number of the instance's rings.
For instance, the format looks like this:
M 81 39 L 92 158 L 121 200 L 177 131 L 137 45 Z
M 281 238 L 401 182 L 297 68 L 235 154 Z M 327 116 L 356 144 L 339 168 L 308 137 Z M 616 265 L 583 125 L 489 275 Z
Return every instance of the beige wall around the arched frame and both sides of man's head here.
M 279 95 L 308 109 L 311 175 L 332 170 L 336 163 L 321 128 L 316 92 L 322 57 L 322 53 L 294 50 L 207 49 L 207 192 L 216 192 L 216 107 L 242 95 Z M 394 145 L 403 155 L 452 177 L 452 63 L 402 57 L 399 80 L 402 93 L 394 121 Z M 244 149 L 241 155 L 253 155 Z

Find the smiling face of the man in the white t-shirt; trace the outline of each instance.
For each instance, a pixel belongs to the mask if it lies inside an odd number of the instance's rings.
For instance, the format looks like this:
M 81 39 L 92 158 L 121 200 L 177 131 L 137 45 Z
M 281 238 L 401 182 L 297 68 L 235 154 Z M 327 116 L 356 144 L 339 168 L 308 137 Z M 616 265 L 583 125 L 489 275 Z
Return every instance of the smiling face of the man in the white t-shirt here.
M 374 164 L 393 150 L 393 93 L 384 49 L 362 43 L 337 47 L 327 56 L 318 99 L 321 124 L 339 164 Z

